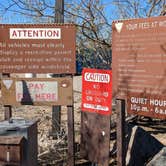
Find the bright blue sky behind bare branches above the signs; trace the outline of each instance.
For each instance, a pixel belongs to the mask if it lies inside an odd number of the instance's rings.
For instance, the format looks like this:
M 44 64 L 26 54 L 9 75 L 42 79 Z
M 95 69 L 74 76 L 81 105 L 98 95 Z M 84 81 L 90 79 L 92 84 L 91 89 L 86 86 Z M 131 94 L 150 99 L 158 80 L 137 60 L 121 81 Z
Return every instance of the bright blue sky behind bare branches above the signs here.
M 21 0 L 13 0 L 13 1 L 21 1 Z M 42 2 L 43 0 L 24 0 L 27 1 L 29 3 L 35 3 L 35 2 Z M 51 6 L 54 6 L 55 4 L 55 0 L 45 0 L 46 2 L 48 2 L 49 4 L 51 4 Z M 64 0 L 65 4 L 67 3 L 74 3 L 74 2 L 79 2 L 80 0 Z M 82 0 L 83 2 L 87 2 L 87 0 Z M 96 0 L 97 1 L 97 0 Z M 116 2 L 121 2 L 123 3 L 123 7 L 125 7 L 126 5 L 129 5 L 129 7 L 131 8 L 126 8 L 126 13 L 129 13 L 129 17 L 128 18 L 132 18 L 132 14 L 134 15 L 134 11 L 132 11 L 133 6 L 132 5 L 136 5 L 136 7 L 138 7 L 138 15 L 135 17 L 146 17 L 146 12 L 150 10 L 150 1 L 149 0 L 133 0 L 133 1 L 128 1 L 128 4 L 125 4 L 126 1 L 118 1 L 118 0 L 101 0 L 101 2 L 103 4 L 107 4 L 105 7 L 105 14 L 107 19 L 109 20 L 109 23 L 111 23 L 113 20 L 118 20 L 121 19 L 120 18 L 120 12 L 117 11 L 116 5 L 115 5 L 115 1 Z M 113 3 L 114 2 L 114 3 Z M 130 5 L 130 2 L 132 2 L 132 5 Z M 160 2 L 160 5 L 163 5 L 164 1 Z M 152 5 L 152 4 L 151 4 Z M 154 9 L 154 12 L 152 14 L 152 16 L 158 16 L 162 9 L 163 6 L 158 5 L 158 7 L 156 7 Z M 23 16 L 20 14 L 16 14 L 16 12 L 5 12 L 5 8 L 7 8 L 8 6 L 12 6 L 12 8 L 10 8 L 11 10 L 15 10 L 18 11 L 18 8 L 16 8 L 15 6 L 12 5 L 12 0 L 0 0 L 0 21 L 1 23 L 34 23 L 34 20 L 31 20 L 30 18 L 28 18 L 27 16 Z M 65 5 L 66 6 L 66 5 Z M 125 8 L 124 8 L 125 9 Z M 45 14 L 53 14 L 54 10 L 46 10 Z M 27 11 L 26 11 L 27 12 Z M 132 13 L 133 12 L 133 13 Z M 130 15 L 131 13 L 131 15 Z M 126 18 L 126 17 L 125 17 Z M 38 20 L 40 21 L 40 20 Z M 37 21 L 36 21 L 37 22 Z M 46 20 L 46 22 L 48 23 L 48 19 Z M 51 21 L 50 21 L 51 22 Z M 38 22 L 40 23 L 40 22 Z M 43 23 L 43 22 L 41 22 Z

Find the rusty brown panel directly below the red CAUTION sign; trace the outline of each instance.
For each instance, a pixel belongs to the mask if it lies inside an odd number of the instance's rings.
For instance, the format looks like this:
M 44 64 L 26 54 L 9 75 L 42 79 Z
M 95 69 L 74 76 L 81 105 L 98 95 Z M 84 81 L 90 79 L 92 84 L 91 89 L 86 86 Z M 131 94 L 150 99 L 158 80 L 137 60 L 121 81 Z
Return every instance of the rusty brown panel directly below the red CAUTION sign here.
M 110 116 L 81 112 L 81 156 L 109 165 Z

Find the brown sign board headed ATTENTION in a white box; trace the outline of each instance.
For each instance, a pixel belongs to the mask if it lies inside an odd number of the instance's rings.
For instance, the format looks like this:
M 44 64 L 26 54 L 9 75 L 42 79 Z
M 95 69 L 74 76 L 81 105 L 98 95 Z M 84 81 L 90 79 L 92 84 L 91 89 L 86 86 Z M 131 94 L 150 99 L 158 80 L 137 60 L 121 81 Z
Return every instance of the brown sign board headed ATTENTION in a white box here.
M 75 73 L 72 24 L 0 24 L 1 73 Z

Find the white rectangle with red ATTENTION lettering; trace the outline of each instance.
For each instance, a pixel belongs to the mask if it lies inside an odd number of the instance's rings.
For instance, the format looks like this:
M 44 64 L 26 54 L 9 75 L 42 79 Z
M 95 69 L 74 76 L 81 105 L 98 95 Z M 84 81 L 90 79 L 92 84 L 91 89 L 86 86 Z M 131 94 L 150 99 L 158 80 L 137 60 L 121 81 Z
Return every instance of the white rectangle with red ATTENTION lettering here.
M 61 29 L 10 28 L 10 39 L 61 39 Z

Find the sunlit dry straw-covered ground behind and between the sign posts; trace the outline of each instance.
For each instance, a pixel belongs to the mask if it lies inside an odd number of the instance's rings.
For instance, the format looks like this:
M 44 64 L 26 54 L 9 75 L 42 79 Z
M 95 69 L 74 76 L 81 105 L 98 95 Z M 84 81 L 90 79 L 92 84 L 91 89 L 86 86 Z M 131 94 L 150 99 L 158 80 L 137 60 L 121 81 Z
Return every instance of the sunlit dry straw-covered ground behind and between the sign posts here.
M 74 127 L 75 142 L 80 144 L 80 105 L 81 92 L 74 91 Z M 66 166 L 67 160 L 67 109 L 62 106 L 61 110 L 61 132 L 56 139 L 51 136 L 52 131 L 52 108 L 48 106 L 21 106 L 13 107 L 14 118 L 25 118 L 38 121 L 38 163 L 39 166 Z M 4 107 L 0 107 L 0 121 L 4 118 Z M 166 146 L 166 122 L 165 121 L 149 121 L 139 120 L 138 125 L 147 130 L 155 138 Z M 116 113 L 113 113 L 111 120 L 111 141 L 110 141 L 110 165 L 116 165 L 115 145 L 115 126 Z M 76 148 L 79 151 L 79 146 Z M 76 151 L 77 151 L 76 150 Z M 79 152 L 76 152 L 76 163 L 83 163 Z

